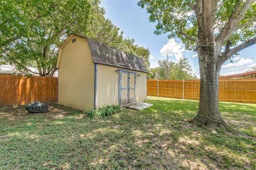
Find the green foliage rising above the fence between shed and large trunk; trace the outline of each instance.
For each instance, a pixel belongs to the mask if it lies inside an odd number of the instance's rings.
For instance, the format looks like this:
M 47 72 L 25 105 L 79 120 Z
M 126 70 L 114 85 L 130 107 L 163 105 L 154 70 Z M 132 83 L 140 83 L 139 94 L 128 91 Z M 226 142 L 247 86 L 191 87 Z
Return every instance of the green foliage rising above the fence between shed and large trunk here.
M 159 60 L 159 67 L 150 69 L 148 73 L 149 79 L 162 80 L 192 80 L 197 79 L 192 73 L 191 65 L 188 58 L 181 58 L 177 63 L 168 62 L 167 60 Z

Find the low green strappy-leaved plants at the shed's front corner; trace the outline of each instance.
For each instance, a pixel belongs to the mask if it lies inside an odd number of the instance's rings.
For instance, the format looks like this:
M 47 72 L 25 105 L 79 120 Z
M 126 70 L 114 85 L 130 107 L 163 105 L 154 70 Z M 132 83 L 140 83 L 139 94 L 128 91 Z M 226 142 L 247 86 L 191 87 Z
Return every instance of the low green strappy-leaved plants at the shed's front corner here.
M 113 106 L 104 106 L 104 107 L 98 108 L 97 110 L 91 109 L 89 111 L 86 111 L 85 114 L 88 117 L 91 117 L 92 119 L 99 119 L 105 116 L 113 115 L 117 112 L 120 112 L 121 110 L 122 110 L 122 106 L 113 105 Z

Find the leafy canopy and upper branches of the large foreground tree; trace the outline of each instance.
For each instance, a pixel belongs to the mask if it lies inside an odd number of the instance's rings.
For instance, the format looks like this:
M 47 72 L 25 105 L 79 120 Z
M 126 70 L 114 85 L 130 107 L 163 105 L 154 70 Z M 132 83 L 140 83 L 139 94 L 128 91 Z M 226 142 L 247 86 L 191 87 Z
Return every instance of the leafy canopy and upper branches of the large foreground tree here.
M 168 33 L 169 38 L 180 38 L 188 50 L 196 50 L 198 43 L 201 43 L 198 41 L 198 36 L 199 34 L 202 35 L 202 31 L 204 31 L 202 29 L 203 24 L 210 24 L 212 26 L 211 29 L 213 29 L 205 30 L 209 31 L 205 32 L 209 36 L 205 38 L 209 39 L 209 42 L 212 41 L 210 43 L 215 42 L 218 46 L 226 47 L 226 52 L 229 52 L 228 58 L 239 52 L 239 50 L 246 48 L 249 44 L 255 43 L 255 1 L 216 0 L 205 4 L 209 6 L 207 9 L 202 7 L 202 3 L 206 3 L 206 1 L 141 0 L 138 5 L 146 8 L 150 14 L 149 20 L 151 22 L 157 23 L 155 30 L 157 35 Z M 196 5 L 200 5 L 200 7 L 196 8 Z M 202 13 L 204 16 L 200 15 Z M 207 17 L 209 15 L 213 17 Z M 211 32 L 213 32 L 213 35 Z M 241 44 L 241 42 L 245 43 Z M 241 45 L 229 49 L 237 44 Z M 226 59 L 226 57 L 224 58 Z

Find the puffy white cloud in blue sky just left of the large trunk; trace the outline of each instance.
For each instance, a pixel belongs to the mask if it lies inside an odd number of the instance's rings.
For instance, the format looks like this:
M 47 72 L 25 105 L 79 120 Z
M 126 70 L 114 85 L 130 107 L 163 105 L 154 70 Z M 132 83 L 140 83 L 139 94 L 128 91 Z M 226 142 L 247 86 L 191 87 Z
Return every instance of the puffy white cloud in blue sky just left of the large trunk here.
M 165 44 L 160 49 L 160 54 L 163 56 L 170 55 L 174 56 L 176 60 L 180 60 L 182 58 L 182 52 L 185 51 L 185 48 L 182 48 L 181 44 L 176 43 L 174 39 L 169 39 L 167 44 Z

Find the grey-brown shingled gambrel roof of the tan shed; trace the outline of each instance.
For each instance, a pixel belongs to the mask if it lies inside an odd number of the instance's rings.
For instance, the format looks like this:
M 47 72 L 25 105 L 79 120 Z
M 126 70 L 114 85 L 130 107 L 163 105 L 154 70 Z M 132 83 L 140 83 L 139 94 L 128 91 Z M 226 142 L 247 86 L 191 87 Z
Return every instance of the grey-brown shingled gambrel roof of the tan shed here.
M 69 38 L 74 36 L 87 39 L 89 47 L 91 49 L 92 59 L 94 63 L 116 66 L 123 69 L 147 72 L 145 63 L 143 62 L 143 59 L 141 57 L 137 57 L 132 54 L 125 53 L 122 50 L 109 47 L 105 44 L 99 43 L 87 37 L 75 35 L 73 33 L 70 34 Z M 66 41 L 63 44 L 65 44 Z M 63 44 L 61 45 L 60 48 L 62 48 Z M 59 60 L 59 57 L 58 57 L 58 60 Z M 57 67 L 58 67 L 58 63 L 59 62 L 57 62 Z

